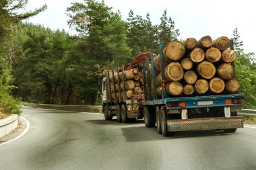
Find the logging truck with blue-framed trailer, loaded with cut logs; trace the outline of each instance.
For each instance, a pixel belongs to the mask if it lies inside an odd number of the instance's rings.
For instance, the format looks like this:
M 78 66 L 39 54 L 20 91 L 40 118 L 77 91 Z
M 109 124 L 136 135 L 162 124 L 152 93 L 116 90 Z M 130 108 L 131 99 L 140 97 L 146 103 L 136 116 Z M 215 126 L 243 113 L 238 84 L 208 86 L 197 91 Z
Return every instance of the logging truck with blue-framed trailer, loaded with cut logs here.
M 143 59 L 133 62 L 143 82 L 142 92 L 139 95 L 131 93 L 131 99 L 127 100 L 129 96 L 125 95 L 127 88 L 124 87 L 123 101 L 120 100 L 120 78 L 123 84 L 127 79 L 125 67 L 121 73 L 107 72 L 103 82 L 111 91 L 111 82 L 115 87 L 117 77 L 119 94 L 115 93 L 112 98 L 106 95 L 109 97 L 103 103 L 106 120 L 115 115 L 119 122 L 123 116 L 126 121 L 143 116 L 146 127 L 156 126 L 163 136 L 187 130 L 235 132 L 236 128 L 243 128 L 243 117 L 237 116 L 237 112 L 241 110 L 244 95 L 237 93 L 236 54 L 231 40 L 220 37 L 212 41 L 210 36 L 205 36 L 197 42 L 188 38 L 184 43 L 170 41 L 164 48 L 160 44 L 159 49 L 158 56 L 147 53 Z M 127 71 L 133 69 L 133 64 L 129 64 Z

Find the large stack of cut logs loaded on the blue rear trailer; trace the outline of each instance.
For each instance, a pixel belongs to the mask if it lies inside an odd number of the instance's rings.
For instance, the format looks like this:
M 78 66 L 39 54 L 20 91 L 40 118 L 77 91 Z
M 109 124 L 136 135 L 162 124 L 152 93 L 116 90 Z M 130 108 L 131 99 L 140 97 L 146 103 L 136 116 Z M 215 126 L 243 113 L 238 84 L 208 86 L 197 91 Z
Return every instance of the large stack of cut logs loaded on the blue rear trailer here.
M 236 52 L 229 47 L 230 40 L 224 36 L 214 41 L 210 36 L 204 36 L 198 42 L 195 38 L 187 38 L 184 43 L 177 40 L 168 42 L 163 50 L 166 93 L 186 96 L 236 92 L 239 83 L 234 78 L 232 64 Z M 154 58 L 154 69 L 156 94 L 161 97 L 160 55 Z

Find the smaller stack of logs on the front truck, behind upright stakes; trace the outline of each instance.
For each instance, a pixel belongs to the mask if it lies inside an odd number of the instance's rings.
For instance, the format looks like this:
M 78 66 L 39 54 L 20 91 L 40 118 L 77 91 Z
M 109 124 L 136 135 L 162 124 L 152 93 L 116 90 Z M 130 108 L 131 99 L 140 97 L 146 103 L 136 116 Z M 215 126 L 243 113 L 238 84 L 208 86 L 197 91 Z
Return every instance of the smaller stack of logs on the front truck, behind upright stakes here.
M 118 77 L 119 76 L 119 77 Z M 143 93 L 143 77 L 138 68 L 124 71 L 123 73 L 110 73 L 110 89 L 111 89 L 111 98 L 116 101 L 119 101 L 119 89 L 120 89 L 120 99 L 123 101 L 123 91 L 125 91 L 125 97 L 131 99 L 133 94 Z M 123 84 L 124 78 L 124 84 Z M 114 87 L 115 86 L 115 87 Z

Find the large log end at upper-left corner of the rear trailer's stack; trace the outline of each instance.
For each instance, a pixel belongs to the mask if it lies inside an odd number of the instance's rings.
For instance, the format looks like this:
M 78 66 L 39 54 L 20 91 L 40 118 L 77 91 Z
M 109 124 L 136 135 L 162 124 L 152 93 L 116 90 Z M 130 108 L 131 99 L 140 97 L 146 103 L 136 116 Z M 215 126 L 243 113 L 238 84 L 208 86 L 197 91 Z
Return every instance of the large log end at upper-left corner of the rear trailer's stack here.
M 164 48 L 164 57 L 170 60 L 180 60 L 185 54 L 185 46 L 183 43 L 177 40 L 170 41 Z

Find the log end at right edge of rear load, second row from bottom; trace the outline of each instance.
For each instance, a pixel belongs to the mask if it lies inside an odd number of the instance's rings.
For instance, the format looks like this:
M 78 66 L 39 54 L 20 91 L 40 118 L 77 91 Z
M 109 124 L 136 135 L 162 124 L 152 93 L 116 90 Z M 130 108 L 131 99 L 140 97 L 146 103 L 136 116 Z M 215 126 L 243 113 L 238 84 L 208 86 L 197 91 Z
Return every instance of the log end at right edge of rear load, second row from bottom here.
M 234 67 L 231 63 L 223 63 L 217 69 L 218 75 L 224 80 L 230 80 L 234 77 Z

